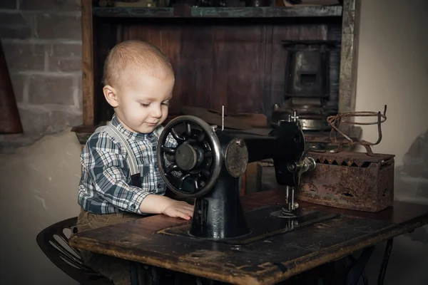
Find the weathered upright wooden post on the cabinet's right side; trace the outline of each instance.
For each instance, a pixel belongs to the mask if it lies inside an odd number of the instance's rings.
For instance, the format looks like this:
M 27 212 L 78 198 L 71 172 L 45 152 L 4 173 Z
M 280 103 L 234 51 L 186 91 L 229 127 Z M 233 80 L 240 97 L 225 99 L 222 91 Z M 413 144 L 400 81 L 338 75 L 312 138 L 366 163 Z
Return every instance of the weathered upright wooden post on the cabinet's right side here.
M 344 0 L 342 16 L 342 52 L 340 60 L 339 112 L 355 111 L 357 90 L 360 0 Z

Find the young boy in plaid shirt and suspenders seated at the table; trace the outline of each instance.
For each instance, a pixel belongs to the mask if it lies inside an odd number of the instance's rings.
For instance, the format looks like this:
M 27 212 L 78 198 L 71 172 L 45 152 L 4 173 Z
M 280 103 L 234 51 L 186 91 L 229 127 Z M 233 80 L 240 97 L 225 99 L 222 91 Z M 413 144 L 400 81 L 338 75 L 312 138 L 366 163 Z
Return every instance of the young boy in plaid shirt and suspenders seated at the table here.
M 165 182 L 158 172 L 156 147 L 175 82 L 168 58 L 149 43 L 125 41 L 108 54 L 103 72 L 104 97 L 115 111 L 108 127 L 116 129 L 98 128 L 83 148 L 78 232 L 144 214 L 190 219 L 193 206 L 165 197 Z M 168 142 L 175 143 L 173 139 Z M 130 155 L 138 165 L 133 177 Z M 131 284 L 126 261 L 86 251 L 81 254 L 88 266 L 114 284 Z

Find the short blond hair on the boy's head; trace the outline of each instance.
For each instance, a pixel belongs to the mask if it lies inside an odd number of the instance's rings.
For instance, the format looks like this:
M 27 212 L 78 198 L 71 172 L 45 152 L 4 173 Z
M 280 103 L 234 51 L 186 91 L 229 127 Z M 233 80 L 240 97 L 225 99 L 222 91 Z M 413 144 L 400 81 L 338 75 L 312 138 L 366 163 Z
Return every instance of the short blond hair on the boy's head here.
M 170 61 L 161 49 L 145 41 L 123 41 L 108 53 L 103 71 L 104 86 L 121 86 L 126 81 L 126 78 L 121 78 L 121 73 L 128 67 L 136 68 L 146 76 L 174 77 Z

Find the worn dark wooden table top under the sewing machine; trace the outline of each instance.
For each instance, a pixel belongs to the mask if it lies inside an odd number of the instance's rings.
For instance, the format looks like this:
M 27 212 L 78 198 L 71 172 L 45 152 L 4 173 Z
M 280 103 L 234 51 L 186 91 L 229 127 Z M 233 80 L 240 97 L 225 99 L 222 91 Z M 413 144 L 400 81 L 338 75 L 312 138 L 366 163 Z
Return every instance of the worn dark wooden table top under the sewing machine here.
M 282 202 L 283 190 L 242 197 L 245 209 Z M 79 232 L 70 244 L 101 254 L 232 284 L 275 284 L 302 271 L 352 254 L 428 224 L 428 206 L 395 202 L 378 213 L 347 211 L 299 202 L 300 207 L 341 217 L 240 247 L 154 232 L 183 219 L 156 215 Z

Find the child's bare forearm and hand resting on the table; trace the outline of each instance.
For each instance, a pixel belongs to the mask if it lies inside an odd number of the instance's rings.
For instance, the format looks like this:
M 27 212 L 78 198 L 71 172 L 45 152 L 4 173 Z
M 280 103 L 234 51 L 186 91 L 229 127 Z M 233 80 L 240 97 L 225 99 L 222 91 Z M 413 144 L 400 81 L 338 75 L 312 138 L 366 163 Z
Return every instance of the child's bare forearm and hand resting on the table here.
M 147 214 L 165 214 L 169 217 L 191 219 L 194 206 L 161 195 L 147 195 L 140 205 L 140 211 Z

